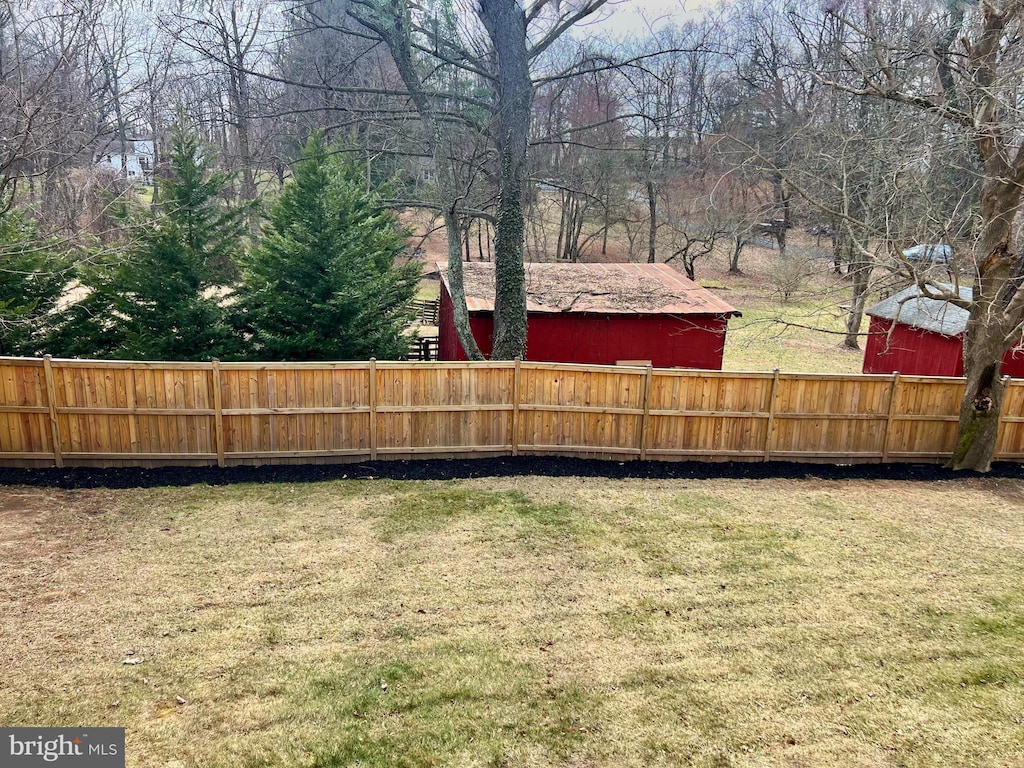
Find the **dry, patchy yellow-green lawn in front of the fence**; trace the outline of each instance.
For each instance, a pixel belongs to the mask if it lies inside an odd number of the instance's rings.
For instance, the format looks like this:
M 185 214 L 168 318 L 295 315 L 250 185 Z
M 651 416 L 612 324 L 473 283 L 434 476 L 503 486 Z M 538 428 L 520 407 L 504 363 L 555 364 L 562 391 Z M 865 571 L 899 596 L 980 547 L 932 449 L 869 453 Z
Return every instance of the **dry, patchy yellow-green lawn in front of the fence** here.
M 1024 765 L 1022 481 L 0 502 L 0 722 L 129 766 Z

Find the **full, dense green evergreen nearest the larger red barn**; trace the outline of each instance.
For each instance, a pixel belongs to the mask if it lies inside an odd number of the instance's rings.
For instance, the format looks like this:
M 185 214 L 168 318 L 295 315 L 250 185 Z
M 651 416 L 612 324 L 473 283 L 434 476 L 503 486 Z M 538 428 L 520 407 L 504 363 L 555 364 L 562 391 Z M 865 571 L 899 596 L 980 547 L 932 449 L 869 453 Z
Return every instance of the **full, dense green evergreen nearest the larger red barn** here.
M 243 268 L 250 357 L 397 358 L 419 268 L 398 266 L 408 232 L 366 191 L 361 169 L 311 138 Z

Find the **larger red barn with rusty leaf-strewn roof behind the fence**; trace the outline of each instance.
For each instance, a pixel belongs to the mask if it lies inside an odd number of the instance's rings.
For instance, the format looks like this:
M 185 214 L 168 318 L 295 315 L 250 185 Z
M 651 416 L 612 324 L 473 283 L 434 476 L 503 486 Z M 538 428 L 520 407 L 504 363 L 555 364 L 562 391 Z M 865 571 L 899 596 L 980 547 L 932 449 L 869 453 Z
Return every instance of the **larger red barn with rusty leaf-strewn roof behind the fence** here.
M 526 356 L 545 362 L 721 370 L 735 308 L 666 264 L 526 264 Z M 447 266 L 438 264 L 439 358 L 464 360 L 453 319 Z M 495 266 L 463 264 L 473 337 L 489 356 Z

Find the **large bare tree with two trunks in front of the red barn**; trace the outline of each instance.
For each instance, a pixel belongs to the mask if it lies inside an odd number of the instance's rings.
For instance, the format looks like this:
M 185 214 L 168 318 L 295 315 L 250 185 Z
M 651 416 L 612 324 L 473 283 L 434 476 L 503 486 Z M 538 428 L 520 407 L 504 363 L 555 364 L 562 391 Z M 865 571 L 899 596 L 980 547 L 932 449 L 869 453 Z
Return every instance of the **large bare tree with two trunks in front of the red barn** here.
M 494 213 L 488 215 L 495 227 L 493 356 L 523 357 L 523 206 L 534 68 L 559 37 L 603 3 L 585 0 L 562 5 L 538 0 L 523 8 L 515 0 L 484 0 L 472 13 L 460 15 L 446 2 L 412 7 L 403 0 L 353 0 L 351 15 L 366 34 L 387 46 L 424 128 L 426 154 L 433 160 L 447 229 L 456 327 L 471 356 L 477 356 L 478 350 L 465 311 L 460 263 L 463 196 L 453 170 L 460 156 L 451 153 L 463 142 L 453 141 L 453 127 L 486 137 L 494 154 L 484 166 L 494 188 Z M 443 88 L 452 84 L 458 90 Z

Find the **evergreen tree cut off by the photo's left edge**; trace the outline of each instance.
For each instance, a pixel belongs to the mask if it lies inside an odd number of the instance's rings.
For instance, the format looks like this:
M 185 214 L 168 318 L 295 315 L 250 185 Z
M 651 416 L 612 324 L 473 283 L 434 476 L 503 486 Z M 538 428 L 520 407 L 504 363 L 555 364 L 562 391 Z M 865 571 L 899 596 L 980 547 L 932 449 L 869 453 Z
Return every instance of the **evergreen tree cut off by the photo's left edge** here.
M 0 213 L 0 354 L 45 351 L 44 333 L 67 283 L 68 257 L 18 211 Z

